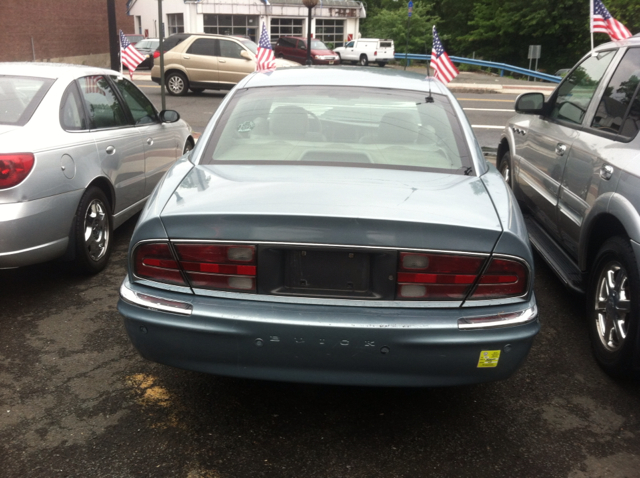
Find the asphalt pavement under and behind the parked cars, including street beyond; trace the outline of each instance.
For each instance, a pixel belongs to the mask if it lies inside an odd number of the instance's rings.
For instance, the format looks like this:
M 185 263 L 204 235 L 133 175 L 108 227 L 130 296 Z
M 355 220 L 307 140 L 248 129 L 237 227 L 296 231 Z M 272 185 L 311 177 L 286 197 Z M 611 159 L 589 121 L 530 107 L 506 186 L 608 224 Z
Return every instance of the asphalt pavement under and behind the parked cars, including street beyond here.
M 466 108 L 512 99 L 459 96 Z M 220 100 L 205 93 L 168 106 L 202 130 Z M 474 124 L 501 121 L 467 111 Z M 486 133 L 491 143 L 499 130 Z M 638 476 L 640 385 L 598 369 L 581 299 L 540 261 L 542 331 L 509 380 L 445 389 L 263 383 L 134 352 L 115 309 L 133 227 L 115 233 L 112 260 L 95 277 L 57 263 L 0 271 L 0 476 Z

